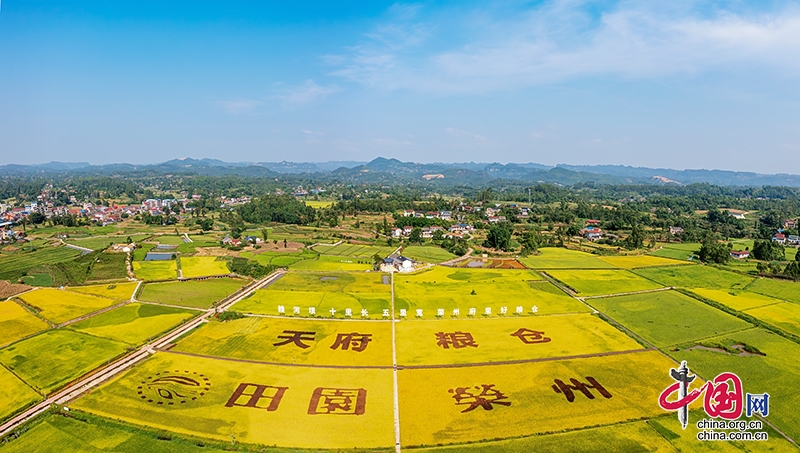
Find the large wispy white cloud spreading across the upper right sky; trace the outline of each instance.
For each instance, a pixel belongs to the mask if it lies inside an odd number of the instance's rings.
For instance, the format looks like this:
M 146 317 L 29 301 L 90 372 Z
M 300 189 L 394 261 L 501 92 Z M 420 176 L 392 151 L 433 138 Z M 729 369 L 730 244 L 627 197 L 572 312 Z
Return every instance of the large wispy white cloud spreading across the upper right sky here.
M 596 2 L 551 0 L 502 19 L 453 12 L 468 38 L 417 49 L 431 29 L 380 25 L 331 74 L 382 89 L 487 92 L 614 75 L 694 75 L 717 69 L 800 74 L 800 10 L 737 11 L 738 2 L 620 1 L 597 15 Z M 409 51 L 413 50 L 413 51 Z

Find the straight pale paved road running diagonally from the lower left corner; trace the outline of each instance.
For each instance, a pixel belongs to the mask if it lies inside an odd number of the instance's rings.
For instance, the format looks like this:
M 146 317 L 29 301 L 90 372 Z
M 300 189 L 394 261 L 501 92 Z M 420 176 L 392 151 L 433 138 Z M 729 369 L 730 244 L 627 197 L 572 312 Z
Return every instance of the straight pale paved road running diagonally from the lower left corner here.
M 111 379 L 112 377 L 116 376 L 117 374 L 127 370 L 129 367 L 136 365 L 137 363 L 149 357 L 151 354 L 155 354 L 156 349 L 163 348 L 164 346 L 168 345 L 181 335 L 204 323 L 206 319 L 208 319 L 210 316 L 213 316 L 217 310 L 219 311 L 227 310 L 231 305 L 244 299 L 251 292 L 263 288 L 273 283 L 274 281 L 278 280 L 279 278 L 283 277 L 285 273 L 286 271 L 282 269 L 273 272 L 267 277 L 264 277 L 263 279 L 245 287 L 243 291 L 232 294 L 227 299 L 225 299 L 217 308 L 211 308 L 207 310 L 202 315 L 187 322 L 186 324 L 181 325 L 180 327 L 176 328 L 175 330 L 171 331 L 165 336 L 159 338 L 158 340 L 142 346 L 136 352 L 129 354 L 115 361 L 114 363 L 109 364 L 106 367 L 100 368 L 90 376 L 84 377 L 83 379 L 80 379 L 74 384 L 69 385 L 61 389 L 60 391 L 54 393 L 41 403 L 31 407 L 25 412 L 22 412 L 21 414 L 17 415 L 16 417 L 12 418 L 6 423 L 0 425 L 0 437 L 3 437 L 6 434 L 11 433 L 15 429 L 19 428 L 23 423 L 46 411 L 48 408 L 50 408 L 52 404 L 67 403 L 81 396 L 83 393 L 85 393 L 92 387 L 98 386 L 101 383 L 107 381 L 108 379 Z

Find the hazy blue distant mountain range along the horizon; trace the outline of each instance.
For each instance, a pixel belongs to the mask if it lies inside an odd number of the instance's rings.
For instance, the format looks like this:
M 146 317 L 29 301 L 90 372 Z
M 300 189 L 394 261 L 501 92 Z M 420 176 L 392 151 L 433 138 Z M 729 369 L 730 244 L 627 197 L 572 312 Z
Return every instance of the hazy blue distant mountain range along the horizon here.
M 173 159 L 158 164 L 105 164 L 88 162 L 50 162 L 38 165 L 2 165 L 1 176 L 57 174 L 123 175 L 199 174 L 280 177 L 297 175 L 319 180 L 350 183 L 487 184 L 493 180 L 550 182 L 561 185 L 594 182 L 597 184 L 692 184 L 720 186 L 800 187 L 800 176 L 759 174 L 724 170 L 672 170 L 624 165 L 567 165 L 555 167 L 536 163 L 430 163 L 402 162 L 378 157 L 370 162 L 225 162 L 218 159 Z

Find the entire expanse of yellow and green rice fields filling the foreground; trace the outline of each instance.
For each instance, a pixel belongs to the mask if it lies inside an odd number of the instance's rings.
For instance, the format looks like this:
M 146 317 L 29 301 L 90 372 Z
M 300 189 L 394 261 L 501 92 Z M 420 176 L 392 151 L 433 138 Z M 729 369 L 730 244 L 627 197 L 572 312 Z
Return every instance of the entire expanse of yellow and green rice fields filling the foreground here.
M 179 239 L 153 240 L 164 238 Z M 82 392 L 69 412 L 0 439 L 0 453 L 394 452 L 395 436 L 403 450 L 425 453 L 797 451 L 781 432 L 800 438 L 800 283 L 677 257 L 693 244 L 659 250 L 673 257 L 546 248 L 521 259 L 527 269 L 394 275 L 371 270 L 372 254 L 388 248 L 320 247 L 243 252 L 290 270 Z M 406 251 L 447 258 L 431 247 Z M 184 275 L 218 263 L 180 258 Z M 0 302 L 0 420 L 247 283 L 103 283 Z M 52 323 L 86 318 L 53 329 L 23 303 Z M 764 420 L 781 432 L 765 427 L 764 442 L 698 441 L 702 398 L 685 430 L 658 405 L 680 360 L 698 376 L 691 388 L 728 371 L 744 392 L 768 392 Z

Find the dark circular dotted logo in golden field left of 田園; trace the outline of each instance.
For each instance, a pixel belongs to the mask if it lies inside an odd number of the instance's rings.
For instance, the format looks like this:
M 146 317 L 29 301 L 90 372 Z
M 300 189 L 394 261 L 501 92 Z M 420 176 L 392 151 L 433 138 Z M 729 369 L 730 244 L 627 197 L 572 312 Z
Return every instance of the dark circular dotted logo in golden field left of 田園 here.
M 194 401 L 211 388 L 211 381 L 202 374 L 188 370 L 170 370 L 147 376 L 139 384 L 139 398 L 148 403 L 174 406 Z

